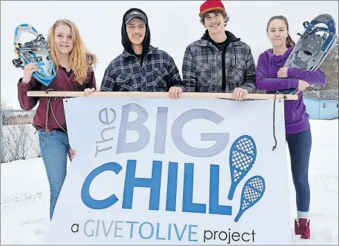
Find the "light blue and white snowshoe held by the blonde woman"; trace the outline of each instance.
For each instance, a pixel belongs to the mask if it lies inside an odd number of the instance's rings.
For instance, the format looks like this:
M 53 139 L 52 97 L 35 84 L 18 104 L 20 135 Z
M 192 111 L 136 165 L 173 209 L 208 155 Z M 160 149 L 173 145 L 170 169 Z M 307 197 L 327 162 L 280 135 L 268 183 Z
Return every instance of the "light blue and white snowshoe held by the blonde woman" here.
M 21 42 L 22 33 L 32 33 L 35 39 L 31 42 Z M 33 72 L 34 78 L 42 84 L 48 86 L 53 78 L 55 78 L 55 68 L 51 57 L 49 56 L 49 49 L 44 37 L 37 33 L 37 30 L 31 25 L 20 24 L 15 29 L 14 35 L 15 54 L 17 59 L 13 59 L 12 63 L 15 67 L 24 69 L 29 62 L 35 63 L 38 71 Z

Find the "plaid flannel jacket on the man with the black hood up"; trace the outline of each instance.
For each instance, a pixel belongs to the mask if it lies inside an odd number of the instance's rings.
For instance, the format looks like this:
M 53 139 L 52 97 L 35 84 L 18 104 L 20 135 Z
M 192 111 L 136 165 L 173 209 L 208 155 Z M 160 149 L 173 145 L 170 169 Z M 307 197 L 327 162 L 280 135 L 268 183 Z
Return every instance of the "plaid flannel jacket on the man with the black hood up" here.
M 123 51 L 105 70 L 101 91 L 166 92 L 184 85 L 171 55 L 150 46 L 141 66 L 135 55 Z

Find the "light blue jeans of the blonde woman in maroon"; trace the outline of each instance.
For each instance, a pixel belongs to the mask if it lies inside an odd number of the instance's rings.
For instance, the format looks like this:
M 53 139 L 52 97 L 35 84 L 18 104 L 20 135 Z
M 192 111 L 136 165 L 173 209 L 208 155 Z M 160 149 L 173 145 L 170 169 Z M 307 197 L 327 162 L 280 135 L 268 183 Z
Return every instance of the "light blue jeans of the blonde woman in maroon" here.
M 67 170 L 69 142 L 66 132 L 39 130 L 42 160 L 46 168 L 50 188 L 50 218 L 52 219 L 55 204 L 58 200 Z

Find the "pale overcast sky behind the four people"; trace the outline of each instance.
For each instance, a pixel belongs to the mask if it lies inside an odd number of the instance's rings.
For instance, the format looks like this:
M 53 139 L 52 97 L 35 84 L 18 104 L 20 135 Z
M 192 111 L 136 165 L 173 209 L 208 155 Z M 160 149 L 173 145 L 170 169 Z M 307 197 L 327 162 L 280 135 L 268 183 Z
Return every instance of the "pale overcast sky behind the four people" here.
M 199 21 L 204 1 L 1 1 L 1 101 L 19 109 L 17 81 L 23 71 L 12 65 L 15 28 L 21 23 L 34 26 L 46 37 L 57 19 L 70 19 L 80 30 L 87 48 L 100 60 L 95 74 L 100 88 L 103 73 L 123 51 L 121 21 L 129 8 L 141 8 L 148 15 L 150 44 L 169 53 L 181 74 L 186 46 L 200 39 L 205 28 Z M 284 15 L 290 35 L 297 42 L 304 21 L 328 13 L 336 21 L 338 1 L 223 1 L 229 22 L 226 30 L 247 43 L 257 63 L 259 54 L 270 49 L 266 25 L 270 17 Z M 26 36 L 30 38 L 30 36 Z M 32 37 L 32 36 L 31 36 Z M 31 39 L 21 39 L 23 42 Z

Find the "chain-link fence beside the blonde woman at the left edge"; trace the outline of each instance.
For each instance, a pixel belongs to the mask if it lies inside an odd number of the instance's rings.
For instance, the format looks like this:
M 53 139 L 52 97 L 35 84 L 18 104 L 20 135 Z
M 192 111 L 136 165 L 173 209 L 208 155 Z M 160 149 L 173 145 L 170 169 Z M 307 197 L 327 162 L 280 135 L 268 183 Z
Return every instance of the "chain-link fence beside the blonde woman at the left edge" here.
M 35 110 L 0 111 L 1 163 L 41 157 L 39 135 L 33 127 Z

